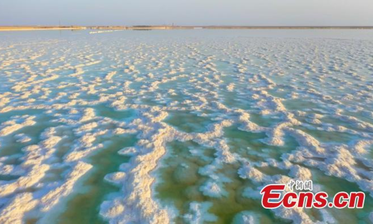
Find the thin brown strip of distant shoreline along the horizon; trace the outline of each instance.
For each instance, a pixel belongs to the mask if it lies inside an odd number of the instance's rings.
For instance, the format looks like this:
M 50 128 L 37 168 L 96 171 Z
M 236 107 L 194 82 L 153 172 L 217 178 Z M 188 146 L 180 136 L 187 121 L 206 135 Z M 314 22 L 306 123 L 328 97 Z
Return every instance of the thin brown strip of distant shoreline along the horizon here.
M 0 26 L 0 31 L 29 31 L 51 29 L 373 29 L 373 26 Z

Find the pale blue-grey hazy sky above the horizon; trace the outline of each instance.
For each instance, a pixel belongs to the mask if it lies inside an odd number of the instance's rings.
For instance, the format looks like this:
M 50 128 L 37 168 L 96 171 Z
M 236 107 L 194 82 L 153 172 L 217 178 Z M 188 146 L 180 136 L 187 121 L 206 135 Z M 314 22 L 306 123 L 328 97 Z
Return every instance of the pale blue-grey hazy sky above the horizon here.
M 0 0 L 0 25 L 373 25 L 373 0 Z

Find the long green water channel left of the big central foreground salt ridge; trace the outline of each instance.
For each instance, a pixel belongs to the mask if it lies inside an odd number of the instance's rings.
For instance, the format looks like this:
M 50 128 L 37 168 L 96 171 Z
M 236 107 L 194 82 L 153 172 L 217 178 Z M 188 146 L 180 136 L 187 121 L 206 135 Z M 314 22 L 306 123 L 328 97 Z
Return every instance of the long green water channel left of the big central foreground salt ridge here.
M 107 223 L 98 214 L 100 204 L 110 193 L 119 192 L 120 188 L 104 181 L 104 176 L 118 170 L 119 165 L 129 161 L 128 156 L 118 155 L 124 147 L 134 146 L 135 136 L 115 137 L 100 152 L 88 158 L 94 166 L 90 171 L 83 188 L 69 200 L 65 211 L 57 218 L 56 223 L 65 224 L 101 224 Z

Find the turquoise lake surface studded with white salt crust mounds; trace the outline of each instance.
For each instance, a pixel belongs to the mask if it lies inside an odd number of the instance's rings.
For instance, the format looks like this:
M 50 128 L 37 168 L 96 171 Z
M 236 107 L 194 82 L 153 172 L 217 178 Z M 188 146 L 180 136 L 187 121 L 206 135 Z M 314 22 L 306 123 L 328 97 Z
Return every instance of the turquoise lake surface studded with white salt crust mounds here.
M 87 212 L 113 224 L 372 221 L 372 41 L 81 32 L 0 37 L 0 223 L 57 222 L 95 172 L 116 192 Z M 366 206 L 260 210 L 291 179 Z

